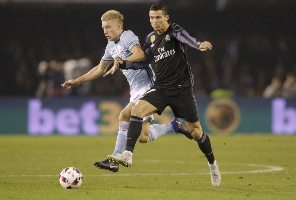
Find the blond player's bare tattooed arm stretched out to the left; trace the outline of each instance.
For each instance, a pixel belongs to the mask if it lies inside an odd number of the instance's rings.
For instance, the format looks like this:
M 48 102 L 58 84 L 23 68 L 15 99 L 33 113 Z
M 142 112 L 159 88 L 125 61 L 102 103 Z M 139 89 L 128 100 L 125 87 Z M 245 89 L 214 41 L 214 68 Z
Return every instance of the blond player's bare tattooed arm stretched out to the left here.
M 112 64 L 113 61 L 100 61 L 100 64 L 98 66 L 95 66 L 93 69 L 91 69 L 89 72 L 84 74 L 83 76 L 79 77 L 78 79 L 71 79 L 68 81 L 65 81 L 65 83 L 61 84 L 62 87 L 67 87 L 67 89 L 70 89 L 72 87 L 77 87 L 80 84 L 84 82 L 88 82 L 91 80 L 94 80 L 104 74 L 110 64 Z

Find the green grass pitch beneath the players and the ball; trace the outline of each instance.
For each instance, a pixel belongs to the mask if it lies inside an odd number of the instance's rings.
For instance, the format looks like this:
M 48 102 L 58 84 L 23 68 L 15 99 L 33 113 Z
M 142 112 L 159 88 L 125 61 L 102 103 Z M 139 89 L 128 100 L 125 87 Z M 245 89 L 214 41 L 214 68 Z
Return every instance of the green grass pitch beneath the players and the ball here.
M 0 199 L 296 199 L 296 136 L 210 134 L 220 165 L 213 187 L 204 155 L 183 135 L 136 144 L 131 168 L 93 166 L 113 152 L 115 136 L 0 136 Z M 78 189 L 59 173 L 76 167 Z

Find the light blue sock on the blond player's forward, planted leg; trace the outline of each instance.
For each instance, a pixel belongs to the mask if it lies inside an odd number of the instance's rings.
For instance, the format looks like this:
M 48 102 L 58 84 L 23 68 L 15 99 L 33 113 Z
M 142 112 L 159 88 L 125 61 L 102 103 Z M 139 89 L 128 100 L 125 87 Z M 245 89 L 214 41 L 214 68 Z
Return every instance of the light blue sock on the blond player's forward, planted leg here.
M 117 134 L 115 149 L 112 155 L 122 153 L 126 148 L 126 137 L 128 135 L 128 126 L 129 126 L 129 122 L 127 121 L 119 122 L 119 131 Z

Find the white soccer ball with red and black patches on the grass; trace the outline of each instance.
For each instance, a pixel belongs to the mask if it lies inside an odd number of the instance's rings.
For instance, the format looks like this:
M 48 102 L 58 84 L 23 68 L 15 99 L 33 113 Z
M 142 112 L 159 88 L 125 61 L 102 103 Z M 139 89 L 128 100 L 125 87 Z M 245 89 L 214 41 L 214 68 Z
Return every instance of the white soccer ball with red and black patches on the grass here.
M 65 168 L 59 175 L 59 183 L 65 189 L 79 188 L 82 183 L 82 174 L 76 168 Z

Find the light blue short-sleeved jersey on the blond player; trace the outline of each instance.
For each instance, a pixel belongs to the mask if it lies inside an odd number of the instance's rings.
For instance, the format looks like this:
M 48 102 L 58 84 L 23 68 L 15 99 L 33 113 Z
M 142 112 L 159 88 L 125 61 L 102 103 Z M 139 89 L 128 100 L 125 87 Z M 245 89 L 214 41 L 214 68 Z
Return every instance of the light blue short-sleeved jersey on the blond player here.
M 127 58 L 131 56 L 131 49 L 139 45 L 138 36 L 136 36 L 132 31 L 123 31 L 120 39 L 116 42 L 109 41 L 106 47 L 105 54 L 102 58 L 103 61 L 114 60 L 117 56 L 119 58 Z M 128 83 L 130 85 L 130 93 L 141 89 L 142 87 L 153 85 L 155 81 L 155 74 L 152 70 L 151 65 L 146 69 L 120 69 L 126 76 Z

